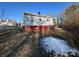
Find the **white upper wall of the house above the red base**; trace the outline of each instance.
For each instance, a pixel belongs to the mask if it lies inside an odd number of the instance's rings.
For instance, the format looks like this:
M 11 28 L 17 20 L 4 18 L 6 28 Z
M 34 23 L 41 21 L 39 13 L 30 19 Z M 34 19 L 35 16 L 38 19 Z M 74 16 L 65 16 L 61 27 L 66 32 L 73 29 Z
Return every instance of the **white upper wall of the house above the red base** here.
M 41 18 L 41 21 L 40 21 L 40 18 Z M 38 16 L 31 16 L 31 15 L 24 16 L 24 26 L 40 26 L 40 25 L 41 26 L 53 25 L 53 20 L 52 18 L 46 18 L 46 17 L 38 17 Z

